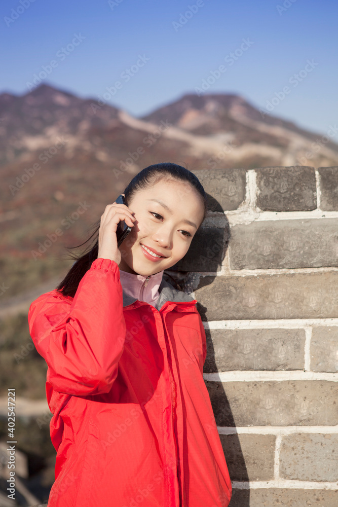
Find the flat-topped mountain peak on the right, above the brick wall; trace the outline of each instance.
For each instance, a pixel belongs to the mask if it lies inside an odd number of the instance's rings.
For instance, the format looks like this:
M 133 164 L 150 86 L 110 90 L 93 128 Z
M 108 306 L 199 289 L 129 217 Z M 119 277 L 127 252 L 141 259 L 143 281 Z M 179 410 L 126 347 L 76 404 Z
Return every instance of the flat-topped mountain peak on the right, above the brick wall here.
M 318 167 L 334 165 L 338 161 L 338 144 L 327 142 L 325 136 L 299 128 L 292 122 L 270 115 L 266 110 L 257 110 L 239 95 L 186 94 L 143 116 L 142 120 L 156 123 L 163 117 L 186 132 L 228 143 L 226 160 L 227 163 L 233 163 L 232 167 L 237 167 L 237 164 L 251 167 L 250 154 L 252 160 L 259 155 L 262 158 L 266 156 L 265 166 Z M 331 135 L 335 133 L 334 126 Z M 220 157 L 215 154 L 214 158 L 218 165 L 217 158 Z

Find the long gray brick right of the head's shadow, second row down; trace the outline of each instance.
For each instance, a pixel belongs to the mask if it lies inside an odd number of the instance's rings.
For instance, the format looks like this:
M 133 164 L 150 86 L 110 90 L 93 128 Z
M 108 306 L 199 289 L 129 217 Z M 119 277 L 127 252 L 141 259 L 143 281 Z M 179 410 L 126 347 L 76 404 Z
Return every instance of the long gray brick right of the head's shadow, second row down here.
M 337 219 L 252 222 L 231 228 L 231 269 L 338 266 Z

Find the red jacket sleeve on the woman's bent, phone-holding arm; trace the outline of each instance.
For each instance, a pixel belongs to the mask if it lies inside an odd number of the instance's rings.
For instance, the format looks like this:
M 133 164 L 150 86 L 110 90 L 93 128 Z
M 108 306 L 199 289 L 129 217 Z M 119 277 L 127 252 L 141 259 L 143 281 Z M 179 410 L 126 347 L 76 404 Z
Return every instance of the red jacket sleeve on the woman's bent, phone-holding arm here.
M 43 294 L 30 305 L 28 324 L 54 390 L 74 395 L 108 392 L 126 337 L 118 264 L 95 259 L 73 299 L 55 291 Z

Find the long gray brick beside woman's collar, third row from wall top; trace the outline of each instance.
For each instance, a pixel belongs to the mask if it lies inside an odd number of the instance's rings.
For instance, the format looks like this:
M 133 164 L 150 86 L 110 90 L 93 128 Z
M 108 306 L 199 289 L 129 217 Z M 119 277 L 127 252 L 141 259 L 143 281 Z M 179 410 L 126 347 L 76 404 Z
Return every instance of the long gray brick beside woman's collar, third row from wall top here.
M 338 271 L 204 276 L 195 297 L 203 320 L 336 318 Z

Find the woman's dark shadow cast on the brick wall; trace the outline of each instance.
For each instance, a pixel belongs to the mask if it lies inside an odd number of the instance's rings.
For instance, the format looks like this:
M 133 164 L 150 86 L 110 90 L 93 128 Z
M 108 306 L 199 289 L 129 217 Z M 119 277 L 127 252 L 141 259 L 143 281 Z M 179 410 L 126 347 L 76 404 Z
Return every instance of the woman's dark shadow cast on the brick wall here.
M 193 292 L 200 283 L 201 275 L 199 273 L 208 273 L 201 284 L 211 284 L 217 273 L 221 270 L 221 265 L 226 256 L 230 240 L 230 224 L 227 216 L 218 201 L 210 194 L 208 198 L 208 211 L 212 216 L 207 216 L 202 227 L 194 236 L 191 246 L 186 255 L 174 266 L 165 271 L 169 275 L 168 281 L 172 283 L 172 278 L 176 281 L 177 288 L 184 292 Z M 209 214 L 209 213 L 208 213 Z M 204 282 L 204 283 L 203 283 Z M 224 301 L 224 305 L 226 302 Z M 197 309 L 203 321 L 208 321 L 208 307 L 197 303 Z M 203 373 L 217 373 L 215 360 L 215 350 L 211 339 L 210 330 L 205 330 L 207 341 L 207 356 L 203 368 Z M 213 390 L 221 388 L 221 383 L 214 381 L 205 381 L 210 394 L 212 409 L 215 414 L 217 426 L 235 428 L 236 424 L 228 401 L 227 393 L 222 391 L 217 396 L 212 395 Z M 213 404 L 217 400 L 217 405 Z M 233 482 L 249 482 L 247 468 L 244 461 L 238 434 L 231 435 L 220 434 L 220 441 L 226 457 L 230 479 Z M 233 490 L 232 499 L 229 507 L 249 507 L 250 491 L 248 489 Z

